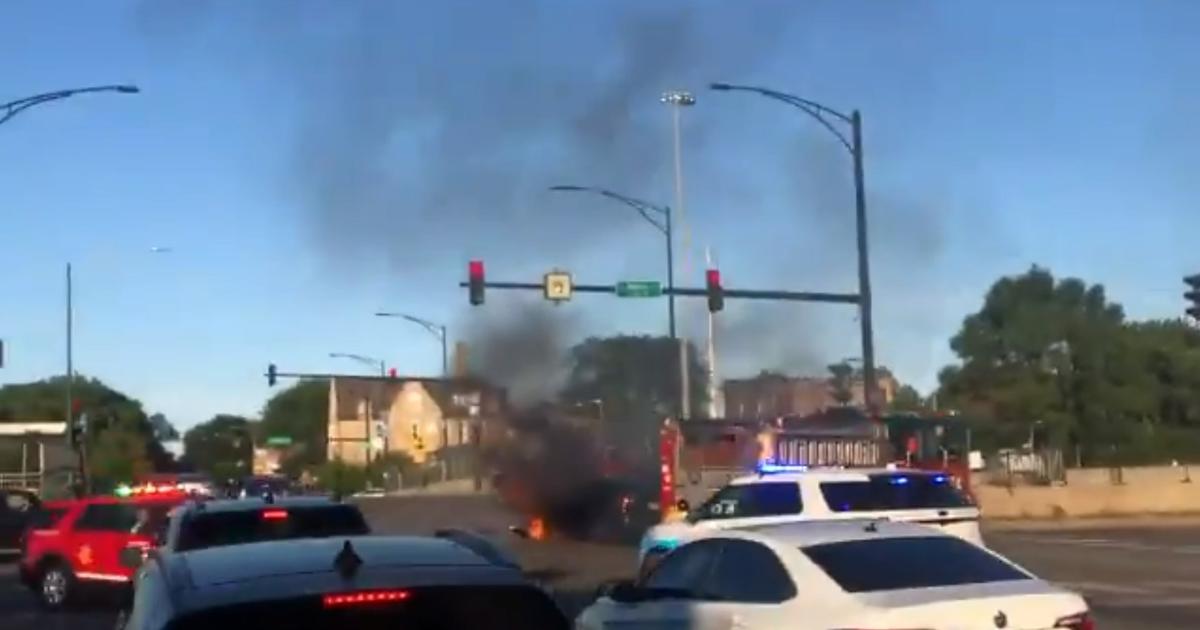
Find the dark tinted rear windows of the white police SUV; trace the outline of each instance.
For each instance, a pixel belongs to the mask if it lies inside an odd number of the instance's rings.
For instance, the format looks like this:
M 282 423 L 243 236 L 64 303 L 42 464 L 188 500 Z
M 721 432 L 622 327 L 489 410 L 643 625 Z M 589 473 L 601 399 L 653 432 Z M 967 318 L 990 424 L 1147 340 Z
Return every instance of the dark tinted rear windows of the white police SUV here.
M 865 481 L 822 481 L 821 494 L 835 512 L 971 508 L 947 475 L 882 474 Z

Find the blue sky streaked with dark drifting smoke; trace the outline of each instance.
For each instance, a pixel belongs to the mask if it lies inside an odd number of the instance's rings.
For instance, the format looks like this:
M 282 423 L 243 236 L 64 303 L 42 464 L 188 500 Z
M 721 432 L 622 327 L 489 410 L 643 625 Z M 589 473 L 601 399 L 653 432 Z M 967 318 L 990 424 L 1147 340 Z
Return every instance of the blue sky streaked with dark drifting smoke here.
M 1200 270 L 1198 18 L 1183 0 L 17 0 L 0 100 L 143 94 L 0 127 L 0 383 L 61 373 L 68 260 L 77 368 L 185 427 L 257 413 L 269 361 L 436 372 L 426 332 L 371 313 L 470 337 L 520 312 L 494 292 L 467 307 L 472 257 L 497 280 L 659 277 L 636 215 L 544 187 L 670 202 L 670 88 L 698 98 L 680 283 L 702 282 L 707 245 L 728 287 L 853 290 L 848 158 L 799 112 L 710 80 L 863 112 L 877 347 L 904 380 L 932 386 L 986 287 L 1034 263 L 1175 317 Z M 551 317 L 568 342 L 653 334 L 664 305 Z M 703 306 L 682 318 L 701 338 Z M 846 307 L 730 304 L 720 371 L 820 372 L 858 353 L 856 326 Z

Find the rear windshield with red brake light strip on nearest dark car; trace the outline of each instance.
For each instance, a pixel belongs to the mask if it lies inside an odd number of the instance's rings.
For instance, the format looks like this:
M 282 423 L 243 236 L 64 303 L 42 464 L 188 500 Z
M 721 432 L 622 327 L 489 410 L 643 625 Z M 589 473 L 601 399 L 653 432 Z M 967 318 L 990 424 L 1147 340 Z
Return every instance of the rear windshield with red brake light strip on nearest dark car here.
M 374 595 L 373 601 L 366 598 Z M 346 594 L 353 599 L 353 593 Z M 334 595 L 262 601 L 181 617 L 168 630 L 287 628 L 288 630 L 566 630 L 566 618 L 541 590 L 522 586 L 426 587 L 364 592 L 362 601 L 326 602 Z M 390 598 L 390 599 L 385 599 Z M 398 599 L 397 598 L 403 598 Z

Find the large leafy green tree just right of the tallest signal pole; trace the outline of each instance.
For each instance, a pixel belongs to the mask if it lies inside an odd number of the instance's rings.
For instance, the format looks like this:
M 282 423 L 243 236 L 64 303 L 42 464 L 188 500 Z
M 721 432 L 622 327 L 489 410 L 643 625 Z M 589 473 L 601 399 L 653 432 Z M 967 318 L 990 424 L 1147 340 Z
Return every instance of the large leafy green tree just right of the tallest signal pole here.
M 940 374 L 940 397 L 1009 444 L 1033 426 L 1058 444 L 1123 440 L 1153 407 L 1124 330 L 1099 284 L 1037 266 L 1001 278 L 950 340 L 960 364 Z

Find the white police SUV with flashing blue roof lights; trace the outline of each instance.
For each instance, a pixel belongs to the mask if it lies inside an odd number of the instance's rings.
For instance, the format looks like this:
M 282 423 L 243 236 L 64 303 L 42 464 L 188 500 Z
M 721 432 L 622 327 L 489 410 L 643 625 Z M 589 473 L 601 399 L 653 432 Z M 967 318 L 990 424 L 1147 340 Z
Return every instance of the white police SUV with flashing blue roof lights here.
M 802 521 L 882 518 L 932 526 L 976 545 L 979 508 L 944 473 L 764 466 L 716 491 L 682 522 L 647 529 L 638 563 L 712 529 Z

